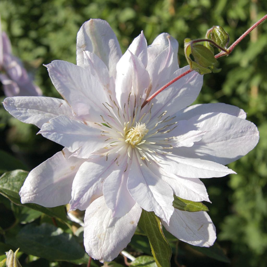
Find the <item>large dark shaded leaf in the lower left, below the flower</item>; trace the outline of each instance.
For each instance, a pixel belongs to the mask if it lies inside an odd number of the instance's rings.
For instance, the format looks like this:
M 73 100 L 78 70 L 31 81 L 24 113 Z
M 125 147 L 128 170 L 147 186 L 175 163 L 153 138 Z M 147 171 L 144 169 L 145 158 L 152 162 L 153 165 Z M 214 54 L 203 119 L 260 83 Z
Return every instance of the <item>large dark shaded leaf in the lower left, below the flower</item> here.
M 19 247 L 26 254 L 51 261 L 70 261 L 84 257 L 84 250 L 76 239 L 62 229 L 43 223 L 28 224 L 17 235 L 7 233 L 6 242 Z

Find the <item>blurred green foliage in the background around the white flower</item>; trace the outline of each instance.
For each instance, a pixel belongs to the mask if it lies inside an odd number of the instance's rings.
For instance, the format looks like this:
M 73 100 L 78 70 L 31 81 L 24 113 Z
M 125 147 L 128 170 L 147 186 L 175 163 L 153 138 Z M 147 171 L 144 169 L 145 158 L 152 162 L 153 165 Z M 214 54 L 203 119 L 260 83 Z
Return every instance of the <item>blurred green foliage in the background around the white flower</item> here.
M 52 60 L 76 63 L 76 35 L 90 18 L 108 21 L 123 52 L 141 30 L 150 44 L 162 32 L 179 41 L 179 64 L 186 65 L 184 38 L 204 38 L 213 25 L 222 26 L 230 35 L 230 44 L 260 19 L 267 1 L 260 0 L 1 0 L 2 28 L 10 37 L 13 53 L 35 74 L 44 95 L 60 97 L 53 88 L 46 68 Z M 212 205 L 210 215 L 218 232 L 218 241 L 231 260 L 231 266 L 264 267 L 267 262 L 267 23 L 246 37 L 229 57 L 220 58 L 220 73 L 204 77 L 197 103 L 223 102 L 243 108 L 248 119 L 260 131 L 260 142 L 247 156 L 230 164 L 238 174 L 228 178 L 205 180 Z M 216 49 L 215 49 L 216 51 Z M 60 147 L 35 136 L 37 128 L 22 124 L 0 110 L 1 149 L 22 159 L 33 168 Z M 33 160 L 34 158 L 34 160 Z M 1 170 L 4 170 L 2 166 Z M 8 169 L 10 170 L 10 168 Z M 12 225 L 14 211 L 0 198 L 0 213 L 5 211 L 2 227 Z M 1 228 L 0 228 L 1 230 Z M 3 242 L 0 239 L 0 242 Z M 1 243 L 4 246 L 4 243 Z M 184 248 L 184 245 L 179 245 Z M 141 249 L 142 251 L 142 249 Z M 182 250 L 183 251 L 183 250 Z M 229 266 L 206 262 L 203 258 L 178 253 L 186 266 Z M 187 252 L 186 252 L 187 251 Z M 1 252 L 2 253 L 2 252 Z M 187 256 L 186 256 L 187 255 Z M 32 256 L 30 256 L 32 257 Z M 23 266 L 73 266 L 47 260 L 23 258 Z M 29 260 L 30 259 L 30 260 Z M 68 263 L 70 264 L 70 263 Z M 205 265 L 206 264 L 206 265 Z M 214 264 L 214 265 L 213 265 Z M 220 265 L 221 264 L 221 265 Z

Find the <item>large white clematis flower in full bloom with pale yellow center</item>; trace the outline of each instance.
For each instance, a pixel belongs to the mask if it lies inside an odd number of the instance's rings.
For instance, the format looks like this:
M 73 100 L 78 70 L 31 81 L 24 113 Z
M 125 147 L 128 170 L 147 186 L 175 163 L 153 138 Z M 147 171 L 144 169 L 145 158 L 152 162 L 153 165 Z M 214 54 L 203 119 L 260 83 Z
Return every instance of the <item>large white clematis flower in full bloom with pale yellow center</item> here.
M 177 238 L 211 246 L 215 227 L 206 212 L 174 209 L 173 194 L 209 201 L 199 178 L 221 177 L 225 167 L 258 142 L 245 112 L 226 104 L 188 107 L 203 77 L 191 72 L 142 103 L 189 66 L 179 69 L 178 43 L 160 34 L 147 46 L 143 33 L 124 55 L 107 22 L 91 19 L 77 35 L 77 65 L 48 64 L 64 100 L 10 97 L 5 108 L 37 125 L 65 148 L 29 173 L 22 203 L 86 210 L 84 244 L 110 261 L 130 242 L 142 209 L 153 211 Z

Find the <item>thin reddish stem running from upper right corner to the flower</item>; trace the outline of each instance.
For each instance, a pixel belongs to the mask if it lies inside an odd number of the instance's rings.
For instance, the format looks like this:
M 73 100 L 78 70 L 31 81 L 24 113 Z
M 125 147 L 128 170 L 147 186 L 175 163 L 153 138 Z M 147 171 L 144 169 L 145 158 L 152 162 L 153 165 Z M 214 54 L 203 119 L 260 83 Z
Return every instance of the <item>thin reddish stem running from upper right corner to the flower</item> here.
M 233 42 L 233 44 L 228 48 L 228 52 L 220 52 L 217 55 L 215 55 L 215 58 L 219 58 L 225 55 L 229 55 L 235 48 L 235 46 L 237 46 L 253 29 L 255 29 L 260 23 L 262 23 L 263 21 L 265 21 L 265 19 L 267 19 L 267 14 L 262 17 L 259 21 L 257 21 L 256 23 L 254 23 L 248 30 L 246 30 L 235 42 Z M 201 39 L 200 39 L 201 40 Z M 204 39 L 203 39 L 204 40 Z M 199 40 L 198 40 L 199 41 Z M 182 78 L 183 76 L 185 76 L 186 74 L 192 72 L 192 69 L 189 69 L 187 71 L 185 71 L 184 73 L 180 74 L 178 77 L 174 78 L 173 80 L 169 81 L 167 84 L 165 84 L 163 87 L 161 87 L 158 91 L 156 91 L 153 95 L 151 95 L 150 97 L 148 97 L 148 99 L 146 99 L 144 101 L 144 103 L 142 104 L 143 108 L 149 101 L 151 101 L 155 96 L 157 96 L 160 92 L 162 92 L 164 89 L 166 89 L 167 87 L 169 87 L 171 84 L 175 83 L 176 81 L 178 81 L 180 78 Z

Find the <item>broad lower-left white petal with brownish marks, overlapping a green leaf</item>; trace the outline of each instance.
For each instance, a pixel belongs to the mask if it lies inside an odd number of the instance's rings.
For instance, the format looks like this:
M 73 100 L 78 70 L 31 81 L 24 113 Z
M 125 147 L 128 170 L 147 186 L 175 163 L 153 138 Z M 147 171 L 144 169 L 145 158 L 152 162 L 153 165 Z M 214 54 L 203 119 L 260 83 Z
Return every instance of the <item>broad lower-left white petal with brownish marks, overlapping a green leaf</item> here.
M 36 203 L 44 207 L 69 203 L 74 176 L 84 162 L 70 155 L 64 148 L 34 168 L 19 192 L 21 203 Z

